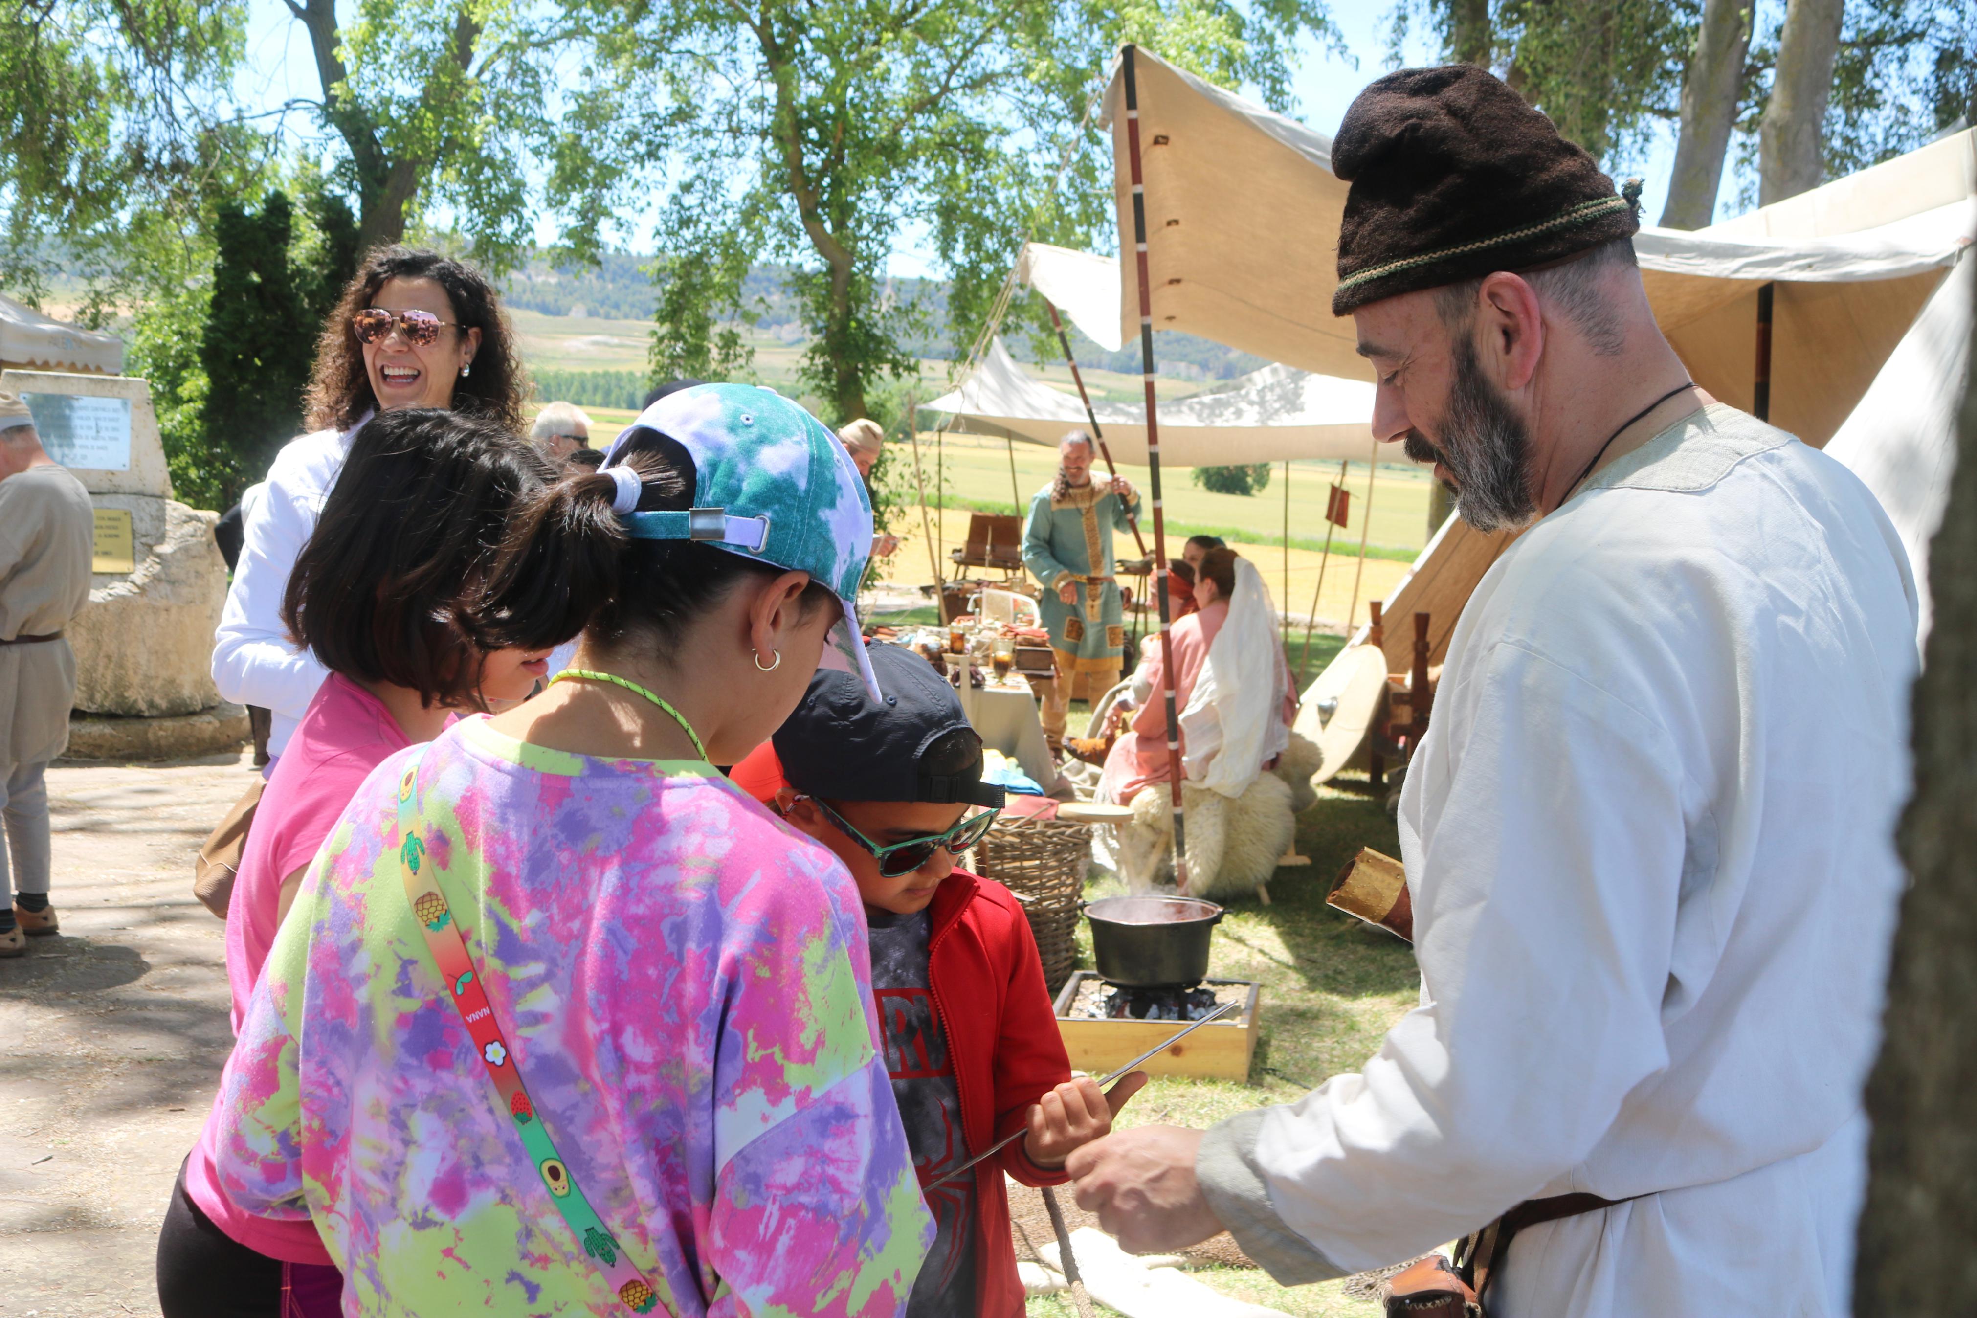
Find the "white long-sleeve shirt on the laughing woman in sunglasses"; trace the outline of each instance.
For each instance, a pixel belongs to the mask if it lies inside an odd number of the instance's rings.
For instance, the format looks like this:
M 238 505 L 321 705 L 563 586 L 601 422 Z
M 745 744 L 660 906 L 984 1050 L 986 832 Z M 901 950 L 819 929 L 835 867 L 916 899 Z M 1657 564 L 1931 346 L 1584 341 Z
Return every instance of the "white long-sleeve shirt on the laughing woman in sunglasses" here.
M 214 632 L 214 686 L 223 700 L 273 713 L 269 755 L 287 749 L 328 676 L 314 654 L 289 642 L 281 597 L 366 419 L 348 431 L 312 431 L 283 445 L 261 498 L 241 518 L 241 557 Z

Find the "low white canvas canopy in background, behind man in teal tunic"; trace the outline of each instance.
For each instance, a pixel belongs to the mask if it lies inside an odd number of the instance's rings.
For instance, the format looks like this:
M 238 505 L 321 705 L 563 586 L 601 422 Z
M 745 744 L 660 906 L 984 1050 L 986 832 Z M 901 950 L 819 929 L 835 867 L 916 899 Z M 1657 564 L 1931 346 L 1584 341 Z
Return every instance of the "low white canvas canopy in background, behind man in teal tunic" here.
M 957 431 L 1006 433 L 1034 445 L 1056 447 L 1066 431 L 1089 429 L 1083 403 L 1028 375 L 1000 338 L 959 389 L 925 407 L 953 415 Z M 1147 409 L 1095 403 L 1093 411 L 1113 460 L 1145 464 Z M 1370 454 L 1372 385 L 1358 379 L 1265 366 L 1226 391 L 1160 403 L 1160 460 L 1178 466 Z

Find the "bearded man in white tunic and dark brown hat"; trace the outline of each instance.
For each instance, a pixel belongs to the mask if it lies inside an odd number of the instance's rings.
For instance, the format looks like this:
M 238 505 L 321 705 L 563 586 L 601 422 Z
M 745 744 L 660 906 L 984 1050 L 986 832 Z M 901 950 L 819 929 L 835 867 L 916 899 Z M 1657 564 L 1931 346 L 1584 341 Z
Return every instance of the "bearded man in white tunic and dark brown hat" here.
M 1372 83 L 1332 164 L 1376 435 L 1522 528 L 1402 790 L 1421 1002 L 1297 1103 L 1077 1150 L 1077 1201 L 1283 1282 L 1516 1207 L 1493 1318 L 1845 1314 L 1908 794 L 1894 528 L 1688 383 L 1633 198 L 1489 73 Z

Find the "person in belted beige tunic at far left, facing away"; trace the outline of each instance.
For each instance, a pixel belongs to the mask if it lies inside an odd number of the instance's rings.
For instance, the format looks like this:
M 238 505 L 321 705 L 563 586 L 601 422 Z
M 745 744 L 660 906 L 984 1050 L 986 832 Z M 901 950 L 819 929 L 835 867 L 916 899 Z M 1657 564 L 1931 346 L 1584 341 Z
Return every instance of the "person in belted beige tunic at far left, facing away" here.
M 75 652 L 61 628 L 89 603 L 93 528 L 89 490 L 42 449 L 28 405 L 0 393 L 0 956 L 55 933 L 45 773 L 69 745 Z

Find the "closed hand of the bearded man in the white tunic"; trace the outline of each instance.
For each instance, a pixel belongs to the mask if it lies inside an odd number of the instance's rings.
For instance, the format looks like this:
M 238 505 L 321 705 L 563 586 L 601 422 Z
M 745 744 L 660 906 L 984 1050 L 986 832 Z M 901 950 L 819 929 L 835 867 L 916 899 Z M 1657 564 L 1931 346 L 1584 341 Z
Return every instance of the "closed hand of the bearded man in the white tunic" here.
M 1077 1182 L 1077 1207 L 1133 1255 L 1200 1245 L 1222 1229 L 1194 1180 L 1200 1130 L 1135 1126 L 1085 1144 L 1066 1172 Z

